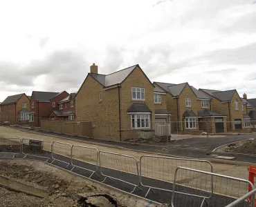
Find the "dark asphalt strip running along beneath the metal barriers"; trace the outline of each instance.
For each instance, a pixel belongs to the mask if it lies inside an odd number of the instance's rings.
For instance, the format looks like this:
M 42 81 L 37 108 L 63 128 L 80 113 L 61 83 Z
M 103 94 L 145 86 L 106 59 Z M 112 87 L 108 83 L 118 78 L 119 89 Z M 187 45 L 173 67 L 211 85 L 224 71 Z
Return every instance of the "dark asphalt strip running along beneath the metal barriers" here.
M 12 157 L 12 153 L 6 153 L 6 154 L 1 154 L 1 157 Z M 45 157 L 48 157 L 49 155 L 46 155 Z M 21 155 L 17 155 L 17 157 L 22 157 Z M 42 160 L 46 161 L 45 157 L 34 157 L 34 156 L 28 156 L 27 158 L 29 159 L 37 159 L 37 160 Z M 67 166 L 67 163 L 70 161 L 68 157 L 64 157 L 61 155 L 58 155 L 57 157 L 55 156 L 57 160 L 53 162 L 54 165 L 60 166 L 62 168 L 65 168 L 67 170 L 71 170 L 72 166 Z M 81 161 L 77 162 L 77 166 L 86 166 L 88 169 L 92 169 L 93 166 L 89 164 L 84 164 Z M 76 172 L 77 174 L 84 175 L 86 177 L 89 177 L 91 175 L 91 172 L 89 170 L 83 170 L 82 168 L 79 168 L 79 170 L 74 169 L 73 172 Z M 116 178 L 122 178 L 124 181 L 130 182 L 131 184 L 138 184 L 138 176 L 137 175 L 132 175 L 127 172 L 120 172 L 118 170 L 112 170 L 109 168 L 104 168 L 102 169 L 102 172 L 104 172 L 104 175 L 108 175 L 111 177 L 116 177 Z M 102 181 L 104 177 L 100 175 L 100 172 L 97 172 L 98 176 L 93 175 L 91 179 L 95 179 L 97 181 Z M 143 177 L 143 182 L 146 183 L 148 186 L 157 186 L 158 188 L 165 188 L 168 190 L 173 189 L 173 185 L 170 182 L 165 182 L 165 181 L 159 181 L 155 179 L 149 179 L 147 177 Z M 127 184 L 123 181 L 118 181 L 117 179 L 106 179 L 104 181 L 105 184 L 108 184 L 109 186 L 113 186 L 116 188 L 119 188 L 120 190 L 125 190 L 127 192 L 131 192 L 133 190 L 134 186 L 131 184 Z M 134 191 L 134 194 L 139 195 L 139 196 L 145 196 L 147 193 L 148 188 L 140 186 L 141 189 L 136 189 Z M 194 188 L 188 188 L 185 186 L 177 185 L 177 189 L 179 189 L 179 192 L 183 193 L 190 193 L 193 195 L 210 195 L 208 192 L 204 192 L 203 190 L 197 190 Z M 158 201 L 160 203 L 165 203 L 165 204 L 170 204 L 171 199 L 172 199 L 172 193 L 167 192 L 165 190 L 156 190 L 154 189 L 153 192 L 150 192 L 149 195 L 147 196 L 148 199 Z M 205 206 L 226 206 L 229 204 L 231 201 L 234 201 L 235 199 L 231 197 L 225 197 L 223 195 L 217 195 L 213 194 L 210 198 L 205 199 L 208 205 L 205 204 Z M 183 207 L 183 206 L 201 206 L 203 199 L 201 197 L 194 197 L 191 195 L 181 195 L 180 193 L 175 193 L 174 197 L 174 206 L 175 207 Z M 204 206 L 204 205 L 203 205 Z M 248 202 L 244 202 L 243 206 L 249 206 Z

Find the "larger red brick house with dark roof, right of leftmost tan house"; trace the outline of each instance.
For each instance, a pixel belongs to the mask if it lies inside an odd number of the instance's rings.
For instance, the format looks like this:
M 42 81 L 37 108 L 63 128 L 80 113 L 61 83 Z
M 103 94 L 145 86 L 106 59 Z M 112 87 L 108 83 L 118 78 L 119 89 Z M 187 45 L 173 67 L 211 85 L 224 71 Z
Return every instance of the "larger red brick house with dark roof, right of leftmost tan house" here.
M 68 92 L 33 91 L 30 98 L 31 126 L 40 126 L 40 120 L 46 119 L 58 107 L 58 103 L 68 97 Z

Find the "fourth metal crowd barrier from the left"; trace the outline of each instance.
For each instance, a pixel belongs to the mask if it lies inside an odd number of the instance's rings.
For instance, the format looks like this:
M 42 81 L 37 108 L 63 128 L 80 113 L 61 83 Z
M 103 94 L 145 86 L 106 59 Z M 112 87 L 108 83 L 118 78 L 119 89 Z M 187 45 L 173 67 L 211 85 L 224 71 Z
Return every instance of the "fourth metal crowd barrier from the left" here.
M 84 170 L 88 170 L 91 173 L 90 177 L 95 174 L 98 170 L 98 149 L 90 148 L 86 146 L 72 146 L 72 155 L 71 155 L 71 164 L 73 168 L 71 171 L 76 168 L 83 168 Z M 97 175 L 98 176 L 98 175 Z

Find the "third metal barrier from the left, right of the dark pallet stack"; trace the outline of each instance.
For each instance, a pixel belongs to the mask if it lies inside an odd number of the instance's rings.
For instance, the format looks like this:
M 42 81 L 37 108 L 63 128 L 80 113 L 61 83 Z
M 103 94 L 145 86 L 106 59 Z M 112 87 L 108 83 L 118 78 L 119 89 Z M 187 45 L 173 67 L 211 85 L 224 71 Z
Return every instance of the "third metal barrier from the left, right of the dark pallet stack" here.
M 71 157 L 72 157 L 72 145 L 62 143 L 59 141 L 53 141 L 53 161 L 61 161 L 67 166 L 71 165 Z M 53 163 L 53 161 L 51 163 Z

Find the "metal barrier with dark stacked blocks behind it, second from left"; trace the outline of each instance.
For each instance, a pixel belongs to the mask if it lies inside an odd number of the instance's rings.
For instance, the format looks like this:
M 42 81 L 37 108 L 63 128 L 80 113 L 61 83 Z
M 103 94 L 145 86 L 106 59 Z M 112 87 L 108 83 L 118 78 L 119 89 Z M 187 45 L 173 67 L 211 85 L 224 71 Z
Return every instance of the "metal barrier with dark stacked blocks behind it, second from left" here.
M 24 158 L 28 155 L 44 157 L 46 161 L 52 157 L 53 144 L 43 139 L 22 139 L 22 154 Z

